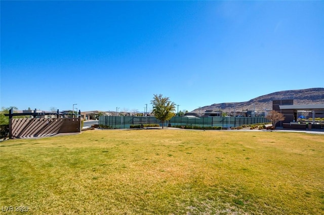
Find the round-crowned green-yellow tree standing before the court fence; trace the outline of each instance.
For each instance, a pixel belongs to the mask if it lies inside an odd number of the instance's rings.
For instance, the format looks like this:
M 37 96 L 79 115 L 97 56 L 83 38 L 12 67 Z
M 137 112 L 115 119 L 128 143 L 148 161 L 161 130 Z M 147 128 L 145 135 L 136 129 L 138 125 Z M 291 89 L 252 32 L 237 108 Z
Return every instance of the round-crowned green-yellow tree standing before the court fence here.
M 151 101 L 155 118 L 162 121 L 162 128 L 164 122 L 170 120 L 175 113 L 173 111 L 176 110 L 176 104 L 171 102 L 169 97 L 163 97 L 161 94 L 154 94 L 153 100 Z

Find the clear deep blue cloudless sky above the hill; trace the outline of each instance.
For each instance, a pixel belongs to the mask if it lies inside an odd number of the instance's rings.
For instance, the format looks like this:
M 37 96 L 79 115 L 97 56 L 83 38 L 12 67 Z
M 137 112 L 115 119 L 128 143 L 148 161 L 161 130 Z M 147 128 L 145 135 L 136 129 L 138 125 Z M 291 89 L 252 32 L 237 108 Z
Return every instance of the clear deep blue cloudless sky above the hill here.
M 194 110 L 324 87 L 323 1 L 1 1 L 1 106 Z

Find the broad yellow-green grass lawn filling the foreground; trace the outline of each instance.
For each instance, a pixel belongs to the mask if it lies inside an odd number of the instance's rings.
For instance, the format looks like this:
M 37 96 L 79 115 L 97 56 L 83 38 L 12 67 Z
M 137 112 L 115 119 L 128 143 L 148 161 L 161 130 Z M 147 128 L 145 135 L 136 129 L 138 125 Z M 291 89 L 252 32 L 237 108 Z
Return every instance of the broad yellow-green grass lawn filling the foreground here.
M 323 135 L 94 130 L 0 153 L 4 214 L 324 214 Z

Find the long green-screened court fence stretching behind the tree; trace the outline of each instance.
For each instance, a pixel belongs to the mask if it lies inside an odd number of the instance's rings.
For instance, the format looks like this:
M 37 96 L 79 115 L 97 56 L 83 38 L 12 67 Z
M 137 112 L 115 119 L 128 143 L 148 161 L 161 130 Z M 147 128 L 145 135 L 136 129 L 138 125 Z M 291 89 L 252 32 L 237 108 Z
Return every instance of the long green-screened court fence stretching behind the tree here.
M 189 125 L 189 126 L 222 126 L 237 127 L 243 124 L 255 124 L 270 122 L 265 117 L 181 117 L 175 116 L 166 121 L 164 126 L 170 123 L 173 125 Z M 153 116 L 100 116 L 99 125 L 110 128 L 129 128 L 130 125 L 137 124 L 159 124 L 162 122 Z

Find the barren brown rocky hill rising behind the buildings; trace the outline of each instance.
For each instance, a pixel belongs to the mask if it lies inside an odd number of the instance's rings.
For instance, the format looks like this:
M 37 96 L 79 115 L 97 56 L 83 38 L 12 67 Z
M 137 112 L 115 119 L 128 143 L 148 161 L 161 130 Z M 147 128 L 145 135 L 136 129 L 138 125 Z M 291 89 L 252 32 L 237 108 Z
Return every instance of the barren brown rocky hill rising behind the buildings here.
M 272 110 L 272 100 L 280 99 L 294 99 L 295 105 L 301 104 L 324 104 L 324 88 L 310 88 L 304 90 L 291 90 L 291 91 L 279 91 L 257 98 L 251 99 L 247 102 L 230 102 L 212 104 L 209 106 L 197 108 L 192 112 L 204 112 L 205 110 L 222 110 L 227 111 L 242 111 L 242 110 L 253 110 L 255 107 L 256 111 Z

